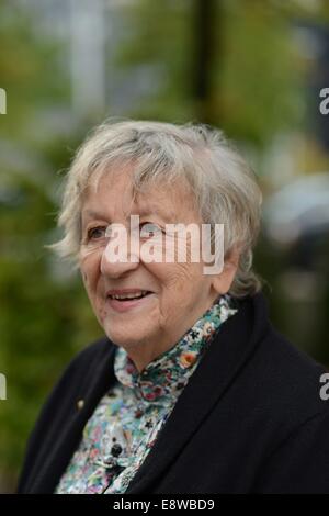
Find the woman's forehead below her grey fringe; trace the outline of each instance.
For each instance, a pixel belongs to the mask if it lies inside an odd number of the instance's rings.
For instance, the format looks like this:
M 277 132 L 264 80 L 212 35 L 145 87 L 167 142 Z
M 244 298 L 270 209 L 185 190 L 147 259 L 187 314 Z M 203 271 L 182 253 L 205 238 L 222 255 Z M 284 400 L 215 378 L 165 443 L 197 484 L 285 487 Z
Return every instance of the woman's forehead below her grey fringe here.
M 82 217 L 128 217 L 131 213 L 158 215 L 166 222 L 185 218 L 196 213 L 191 189 L 184 179 L 171 184 L 156 183 L 134 194 L 132 175 L 128 172 L 104 175 L 91 184 L 83 197 Z

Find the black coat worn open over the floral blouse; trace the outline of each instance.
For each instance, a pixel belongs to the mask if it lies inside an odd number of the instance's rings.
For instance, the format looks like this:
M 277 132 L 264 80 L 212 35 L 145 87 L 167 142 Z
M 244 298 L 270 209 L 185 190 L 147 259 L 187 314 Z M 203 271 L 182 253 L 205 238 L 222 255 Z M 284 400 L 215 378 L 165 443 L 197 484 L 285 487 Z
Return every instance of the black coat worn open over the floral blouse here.
M 325 370 L 273 328 L 263 294 L 239 303 L 126 493 L 329 493 Z M 88 418 L 116 381 L 115 349 L 103 338 L 65 371 L 31 436 L 20 493 L 54 492 Z

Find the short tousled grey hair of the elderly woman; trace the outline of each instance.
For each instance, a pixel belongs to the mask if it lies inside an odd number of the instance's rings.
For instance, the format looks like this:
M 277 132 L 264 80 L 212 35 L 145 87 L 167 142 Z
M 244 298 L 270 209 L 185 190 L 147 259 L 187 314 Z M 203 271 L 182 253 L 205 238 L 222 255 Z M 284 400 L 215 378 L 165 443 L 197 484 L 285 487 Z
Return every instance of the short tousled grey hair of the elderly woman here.
M 66 178 L 58 216 L 65 236 L 48 247 L 78 266 L 83 192 L 114 166 L 129 164 L 134 165 L 134 192 L 160 182 L 188 180 L 204 223 L 224 223 L 225 257 L 239 246 L 239 265 L 229 293 L 242 298 L 261 289 L 261 279 L 252 270 L 261 190 L 253 171 L 223 132 L 203 124 L 109 120 L 93 130 Z

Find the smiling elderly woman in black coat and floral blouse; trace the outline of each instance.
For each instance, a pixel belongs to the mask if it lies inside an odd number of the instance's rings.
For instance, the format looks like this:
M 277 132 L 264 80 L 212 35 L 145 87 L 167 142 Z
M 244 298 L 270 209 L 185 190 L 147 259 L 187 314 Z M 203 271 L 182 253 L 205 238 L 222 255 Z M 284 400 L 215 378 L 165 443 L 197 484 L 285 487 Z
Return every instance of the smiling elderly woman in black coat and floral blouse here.
M 324 369 L 269 321 L 252 271 L 260 205 L 216 130 L 109 122 L 81 146 L 55 247 L 104 337 L 50 394 L 20 493 L 329 492 Z

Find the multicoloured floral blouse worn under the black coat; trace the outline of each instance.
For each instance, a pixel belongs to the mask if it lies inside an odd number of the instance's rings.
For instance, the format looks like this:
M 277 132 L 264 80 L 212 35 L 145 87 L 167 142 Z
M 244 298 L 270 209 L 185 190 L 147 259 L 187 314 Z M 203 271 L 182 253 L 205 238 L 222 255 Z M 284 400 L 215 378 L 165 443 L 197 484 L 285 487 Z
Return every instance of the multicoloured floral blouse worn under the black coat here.
M 117 383 L 88 420 L 57 494 L 122 494 L 152 448 L 215 333 L 237 310 L 228 294 L 168 351 L 138 372 L 126 351 L 114 358 Z

